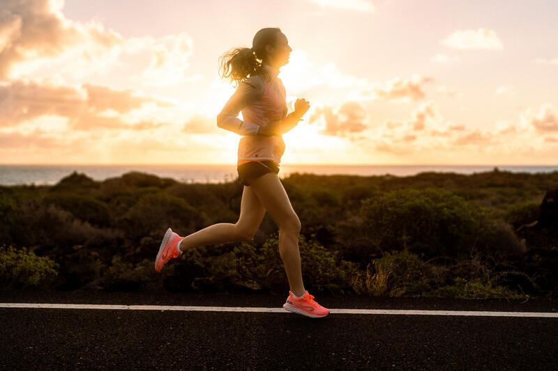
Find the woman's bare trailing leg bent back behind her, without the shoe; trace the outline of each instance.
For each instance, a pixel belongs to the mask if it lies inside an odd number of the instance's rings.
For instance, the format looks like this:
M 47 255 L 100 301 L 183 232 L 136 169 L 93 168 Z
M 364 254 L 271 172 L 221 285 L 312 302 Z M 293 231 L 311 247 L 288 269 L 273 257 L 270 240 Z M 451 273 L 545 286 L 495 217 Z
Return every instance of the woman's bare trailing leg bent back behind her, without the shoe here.
M 239 221 L 217 223 L 184 237 L 180 250 L 186 251 L 199 246 L 224 244 L 226 242 L 249 241 L 262 223 L 266 210 L 259 202 L 252 187 L 244 187 L 240 205 Z

